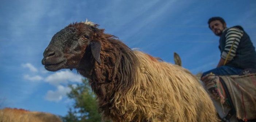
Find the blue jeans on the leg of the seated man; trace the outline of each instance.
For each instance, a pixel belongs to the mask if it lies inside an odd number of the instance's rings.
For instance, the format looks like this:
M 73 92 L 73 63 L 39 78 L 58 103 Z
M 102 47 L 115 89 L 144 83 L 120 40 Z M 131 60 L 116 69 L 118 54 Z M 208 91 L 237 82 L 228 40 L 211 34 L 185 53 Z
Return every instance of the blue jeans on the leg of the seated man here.
M 205 76 L 206 74 L 213 73 L 217 76 L 226 76 L 226 75 L 236 75 L 242 72 L 243 69 L 234 68 L 231 66 L 221 66 L 207 72 L 204 72 L 201 77 Z

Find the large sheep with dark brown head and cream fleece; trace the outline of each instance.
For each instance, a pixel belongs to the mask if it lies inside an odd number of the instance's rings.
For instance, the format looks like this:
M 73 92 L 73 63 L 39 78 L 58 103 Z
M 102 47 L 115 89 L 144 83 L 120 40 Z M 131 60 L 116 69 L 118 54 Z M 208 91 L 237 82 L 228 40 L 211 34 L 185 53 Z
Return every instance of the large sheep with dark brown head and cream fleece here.
M 89 79 L 104 120 L 219 121 L 209 95 L 187 69 L 133 51 L 87 20 L 57 32 L 43 56 L 47 70 L 77 69 Z

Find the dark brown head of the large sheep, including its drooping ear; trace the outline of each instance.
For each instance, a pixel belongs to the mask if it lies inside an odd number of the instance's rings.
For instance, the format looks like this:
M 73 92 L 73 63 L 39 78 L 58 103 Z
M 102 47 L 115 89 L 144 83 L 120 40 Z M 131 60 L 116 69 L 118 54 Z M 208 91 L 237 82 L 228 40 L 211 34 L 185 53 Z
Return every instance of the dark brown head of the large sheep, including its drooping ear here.
M 92 60 L 100 64 L 101 42 L 94 38 L 102 30 L 96 26 L 86 20 L 85 23 L 70 24 L 57 32 L 43 53 L 42 64 L 45 68 L 49 71 L 79 68 L 86 52 L 91 52 Z

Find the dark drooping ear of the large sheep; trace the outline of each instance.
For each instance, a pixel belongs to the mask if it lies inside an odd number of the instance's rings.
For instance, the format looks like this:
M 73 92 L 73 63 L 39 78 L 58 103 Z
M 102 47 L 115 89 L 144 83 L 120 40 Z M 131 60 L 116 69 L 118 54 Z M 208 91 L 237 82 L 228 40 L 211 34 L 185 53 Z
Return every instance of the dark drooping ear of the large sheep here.
M 95 60 L 101 64 L 100 60 L 100 50 L 101 50 L 101 44 L 99 41 L 92 41 L 90 42 L 90 48 L 92 50 L 92 55 L 95 58 Z

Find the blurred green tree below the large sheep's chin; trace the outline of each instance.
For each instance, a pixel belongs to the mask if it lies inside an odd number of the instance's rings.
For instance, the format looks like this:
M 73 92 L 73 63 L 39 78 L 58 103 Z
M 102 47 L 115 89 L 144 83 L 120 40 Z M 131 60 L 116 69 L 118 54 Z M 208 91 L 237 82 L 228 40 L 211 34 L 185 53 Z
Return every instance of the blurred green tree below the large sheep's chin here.
M 74 99 L 74 105 L 69 108 L 68 114 L 62 117 L 63 122 L 101 122 L 101 114 L 98 113 L 96 96 L 88 84 L 88 80 L 82 80 L 77 86 L 71 88 L 67 96 Z

